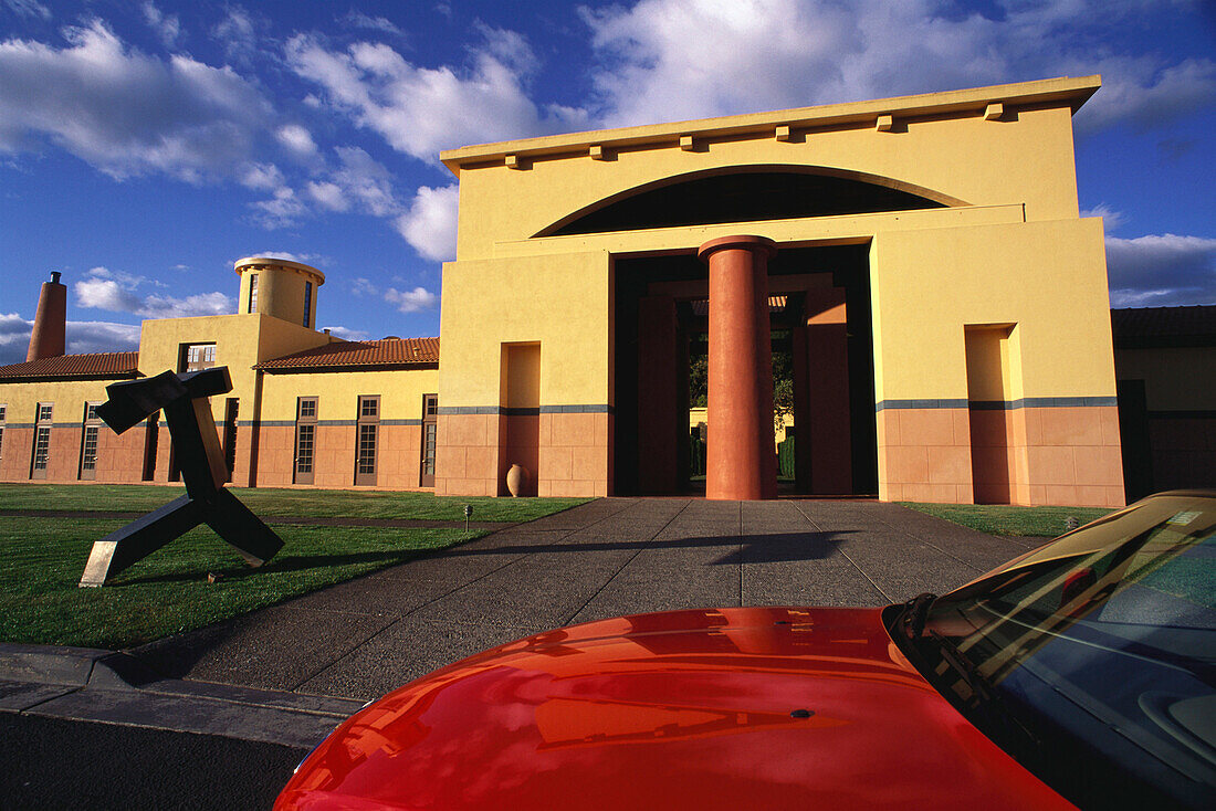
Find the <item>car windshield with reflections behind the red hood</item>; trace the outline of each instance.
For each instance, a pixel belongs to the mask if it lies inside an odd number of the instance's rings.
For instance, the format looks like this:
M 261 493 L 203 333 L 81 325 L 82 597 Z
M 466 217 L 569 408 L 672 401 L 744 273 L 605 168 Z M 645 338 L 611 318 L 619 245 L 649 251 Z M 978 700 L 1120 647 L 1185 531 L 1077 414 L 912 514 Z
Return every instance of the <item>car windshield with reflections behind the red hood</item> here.
M 908 646 L 1074 802 L 1211 807 L 1214 561 L 1216 499 L 1148 499 L 938 598 Z

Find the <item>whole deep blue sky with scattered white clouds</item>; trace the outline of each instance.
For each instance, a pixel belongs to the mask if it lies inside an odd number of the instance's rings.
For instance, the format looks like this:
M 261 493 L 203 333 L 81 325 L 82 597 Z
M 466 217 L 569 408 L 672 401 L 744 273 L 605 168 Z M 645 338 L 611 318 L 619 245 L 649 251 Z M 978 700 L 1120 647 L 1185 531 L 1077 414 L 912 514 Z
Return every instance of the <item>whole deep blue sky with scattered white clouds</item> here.
M 0 0 L 0 364 L 39 285 L 68 351 L 326 275 L 344 338 L 439 334 L 441 150 L 1099 73 L 1075 116 L 1114 306 L 1216 304 L 1210 0 Z

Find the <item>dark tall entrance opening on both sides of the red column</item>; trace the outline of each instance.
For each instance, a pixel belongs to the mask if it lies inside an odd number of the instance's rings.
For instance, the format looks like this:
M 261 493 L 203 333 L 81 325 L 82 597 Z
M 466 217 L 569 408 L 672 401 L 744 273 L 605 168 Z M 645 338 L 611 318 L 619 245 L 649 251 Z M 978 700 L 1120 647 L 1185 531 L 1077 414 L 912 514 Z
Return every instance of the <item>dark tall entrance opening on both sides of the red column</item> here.
M 794 370 L 786 492 L 878 492 L 868 253 L 782 247 L 769 263 L 773 351 Z M 617 259 L 614 285 L 614 492 L 696 492 L 688 370 L 705 353 L 708 270 L 691 253 Z

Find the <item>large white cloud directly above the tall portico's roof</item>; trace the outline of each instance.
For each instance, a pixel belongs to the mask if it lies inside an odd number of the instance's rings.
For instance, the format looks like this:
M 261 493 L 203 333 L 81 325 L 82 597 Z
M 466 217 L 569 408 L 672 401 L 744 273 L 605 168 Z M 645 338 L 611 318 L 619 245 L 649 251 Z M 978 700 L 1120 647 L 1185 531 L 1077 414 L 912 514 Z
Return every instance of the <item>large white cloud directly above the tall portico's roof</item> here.
M 1141 124 L 1216 97 L 1216 63 L 1122 57 L 1099 43 L 1137 2 L 996 4 L 1003 19 L 938 0 L 642 0 L 582 9 L 608 125 L 860 101 L 1103 73 L 1080 128 Z M 706 58 L 706 55 L 711 55 Z

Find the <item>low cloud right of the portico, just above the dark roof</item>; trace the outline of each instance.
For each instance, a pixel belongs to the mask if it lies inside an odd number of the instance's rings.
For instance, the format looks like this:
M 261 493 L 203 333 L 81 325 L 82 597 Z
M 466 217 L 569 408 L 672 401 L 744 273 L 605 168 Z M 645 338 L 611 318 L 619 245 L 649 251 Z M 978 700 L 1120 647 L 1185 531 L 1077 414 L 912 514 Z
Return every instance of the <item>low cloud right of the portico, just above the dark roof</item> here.
M 1216 240 L 1107 237 L 1107 272 L 1113 306 L 1216 304 Z

